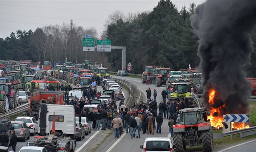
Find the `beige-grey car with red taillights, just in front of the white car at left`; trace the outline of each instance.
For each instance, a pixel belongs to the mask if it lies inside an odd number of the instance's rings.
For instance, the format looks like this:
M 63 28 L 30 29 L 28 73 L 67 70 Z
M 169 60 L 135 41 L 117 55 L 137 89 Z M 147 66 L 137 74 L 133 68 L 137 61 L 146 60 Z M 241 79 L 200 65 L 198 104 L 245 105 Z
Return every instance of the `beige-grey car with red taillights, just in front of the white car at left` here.
M 30 138 L 30 127 L 24 121 L 11 121 L 11 123 L 18 139 L 22 139 L 25 142 L 26 139 Z

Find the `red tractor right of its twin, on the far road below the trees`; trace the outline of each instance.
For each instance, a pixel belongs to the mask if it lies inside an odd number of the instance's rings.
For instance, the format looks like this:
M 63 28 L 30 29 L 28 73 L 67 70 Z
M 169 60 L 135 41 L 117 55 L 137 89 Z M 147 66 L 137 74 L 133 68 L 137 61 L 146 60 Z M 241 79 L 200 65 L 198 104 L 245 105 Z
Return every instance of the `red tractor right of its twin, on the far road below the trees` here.
M 166 84 L 166 81 L 169 77 L 170 68 L 156 68 L 156 87 L 162 86 L 162 84 Z

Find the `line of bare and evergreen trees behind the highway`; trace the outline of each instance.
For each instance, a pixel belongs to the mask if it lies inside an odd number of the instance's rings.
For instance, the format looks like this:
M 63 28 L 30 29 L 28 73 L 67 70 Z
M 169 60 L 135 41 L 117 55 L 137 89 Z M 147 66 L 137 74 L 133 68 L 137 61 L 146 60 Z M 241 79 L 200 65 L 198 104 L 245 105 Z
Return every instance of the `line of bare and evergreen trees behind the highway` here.
M 145 65 L 171 67 L 173 70 L 198 66 L 198 37 L 190 25 L 190 16 L 196 5 L 190 4 L 179 11 L 170 0 L 160 0 L 152 11 L 125 15 L 116 11 L 109 14 L 101 34 L 112 40 L 112 46 L 126 46 L 126 61 L 132 63 L 132 73 L 142 73 Z M 85 34 L 97 38 L 95 28 L 84 29 L 68 24 L 49 25 L 35 31 L 11 33 L 0 38 L 0 59 L 33 61 L 103 62 L 110 70 L 120 70 L 121 51 L 111 53 L 82 52 L 82 37 Z M 252 33 L 256 42 L 256 30 Z M 254 43 L 254 48 L 256 47 Z M 251 55 L 251 64 L 245 66 L 250 77 L 256 77 L 256 53 Z

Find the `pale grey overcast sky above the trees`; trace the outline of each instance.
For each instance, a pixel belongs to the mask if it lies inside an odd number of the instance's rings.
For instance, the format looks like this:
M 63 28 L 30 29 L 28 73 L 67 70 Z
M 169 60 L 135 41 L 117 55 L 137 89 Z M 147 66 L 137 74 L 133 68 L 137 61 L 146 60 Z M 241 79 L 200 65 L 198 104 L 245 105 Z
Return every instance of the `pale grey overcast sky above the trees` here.
M 33 31 L 46 25 L 70 23 L 95 27 L 100 34 L 108 14 L 120 10 L 143 12 L 153 10 L 159 0 L 0 0 L 0 37 L 5 38 L 17 29 Z M 172 0 L 180 10 L 205 0 Z

